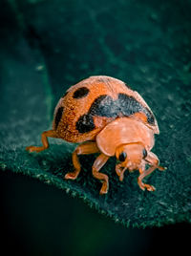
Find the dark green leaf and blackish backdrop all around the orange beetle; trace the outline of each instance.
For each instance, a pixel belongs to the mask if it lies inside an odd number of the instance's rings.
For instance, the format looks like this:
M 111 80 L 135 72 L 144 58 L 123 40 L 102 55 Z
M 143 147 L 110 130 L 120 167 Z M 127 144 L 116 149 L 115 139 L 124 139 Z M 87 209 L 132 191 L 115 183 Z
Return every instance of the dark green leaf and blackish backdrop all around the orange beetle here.
M 7 250 L 27 255 L 151 255 L 186 247 L 190 229 L 190 1 L 0 1 L 0 167 L 2 232 Z M 137 174 L 111 176 L 105 199 L 87 170 L 65 183 L 74 145 L 51 139 L 52 149 L 29 156 L 51 127 L 53 107 L 71 85 L 89 75 L 124 80 L 148 102 L 159 121 L 154 152 L 168 167 L 149 178 L 155 194 L 138 189 Z M 82 158 L 91 168 L 94 157 Z M 91 164 L 90 164 L 91 161 Z M 110 161 L 105 171 L 114 168 Z M 64 191 L 24 177 L 70 189 Z M 87 179 L 87 180 L 86 180 Z M 129 203 L 127 208 L 122 203 Z M 157 206 L 156 206 L 157 205 Z M 132 229 L 124 224 L 174 224 Z

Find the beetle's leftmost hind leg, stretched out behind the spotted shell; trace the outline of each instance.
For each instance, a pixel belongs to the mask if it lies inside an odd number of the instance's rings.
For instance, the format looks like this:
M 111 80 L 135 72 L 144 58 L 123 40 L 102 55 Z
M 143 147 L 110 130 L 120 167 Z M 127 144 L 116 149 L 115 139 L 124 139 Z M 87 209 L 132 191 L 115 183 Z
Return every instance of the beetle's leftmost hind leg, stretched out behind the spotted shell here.
M 56 132 L 54 130 L 43 132 L 41 135 L 41 140 L 43 145 L 41 147 L 29 146 L 29 147 L 26 147 L 26 150 L 29 152 L 33 152 L 33 151 L 40 152 L 47 149 L 49 147 L 49 141 L 47 137 L 57 138 Z

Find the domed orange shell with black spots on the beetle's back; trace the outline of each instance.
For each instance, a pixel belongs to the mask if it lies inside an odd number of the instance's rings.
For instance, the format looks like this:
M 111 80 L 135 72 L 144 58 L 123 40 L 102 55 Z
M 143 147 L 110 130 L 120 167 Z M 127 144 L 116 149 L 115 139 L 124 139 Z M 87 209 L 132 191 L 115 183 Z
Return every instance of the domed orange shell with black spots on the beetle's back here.
M 138 92 L 117 78 L 91 76 L 72 86 L 59 99 L 53 115 L 53 130 L 57 137 L 70 142 L 94 140 L 118 117 L 139 119 L 159 134 L 157 120 Z

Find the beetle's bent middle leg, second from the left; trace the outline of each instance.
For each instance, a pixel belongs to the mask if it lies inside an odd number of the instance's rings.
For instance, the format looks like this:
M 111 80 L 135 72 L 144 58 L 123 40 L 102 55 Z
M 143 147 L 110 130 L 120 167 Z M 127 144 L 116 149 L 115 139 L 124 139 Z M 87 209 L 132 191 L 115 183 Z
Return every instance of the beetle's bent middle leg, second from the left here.
M 96 146 L 96 142 L 85 142 L 78 145 L 73 152 L 73 164 L 74 172 L 67 173 L 65 179 L 75 180 L 81 170 L 81 165 L 78 160 L 78 155 L 94 154 L 99 152 L 99 149 Z

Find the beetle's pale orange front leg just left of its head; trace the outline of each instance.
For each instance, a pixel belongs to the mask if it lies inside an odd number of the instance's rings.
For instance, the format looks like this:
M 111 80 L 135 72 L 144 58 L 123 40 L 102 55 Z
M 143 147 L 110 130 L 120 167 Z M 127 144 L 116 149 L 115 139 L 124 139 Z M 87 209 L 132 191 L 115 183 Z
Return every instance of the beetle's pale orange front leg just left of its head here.
M 105 156 L 104 154 L 100 154 L 94 164 L 93 164 L 93 176 L 97 179 L 100 180 L 103 184 L 102 187 L 99 191 L 99 194 L 107 194 L 108 188 L 109 188 L 109 182 L 108 182 L 108 176 L 103 173 L 99 173 L 99 170 L 103 165 L 106 163 L 107 160 L 109 160 L 110 157 Z

